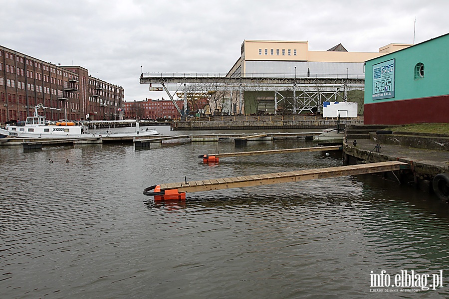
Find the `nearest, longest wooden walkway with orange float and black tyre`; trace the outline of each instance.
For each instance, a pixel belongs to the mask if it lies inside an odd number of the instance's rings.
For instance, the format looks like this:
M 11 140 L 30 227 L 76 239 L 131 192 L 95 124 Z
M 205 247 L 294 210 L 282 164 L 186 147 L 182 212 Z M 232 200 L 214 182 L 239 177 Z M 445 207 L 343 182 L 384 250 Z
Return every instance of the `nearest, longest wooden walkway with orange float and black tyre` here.
M 165 183 L 146 188 L 144 190 L 144 194 L 148 196 L 155 196 L 155 200 L 185 199 L 185 192 L 200 192 L 286 182 L 297 182 L 309 179 L 393 171 L 406 168 L 408 168 L 407 163 L 399 161 L 387 161 L 370 164 L 255 174 L 217 179 L 186 181 L 179 183 Z M 155 192 L 149 192 L 153 189 L 155 190 Z

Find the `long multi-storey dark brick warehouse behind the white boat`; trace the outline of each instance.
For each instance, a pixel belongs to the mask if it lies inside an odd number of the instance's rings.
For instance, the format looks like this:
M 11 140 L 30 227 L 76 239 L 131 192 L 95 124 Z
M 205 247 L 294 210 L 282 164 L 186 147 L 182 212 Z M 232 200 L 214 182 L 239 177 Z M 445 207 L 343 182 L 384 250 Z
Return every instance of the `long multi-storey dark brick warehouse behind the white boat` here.
M 25 120 L 34 106 L 47 120 L 124 119 L 122 87 L 89 76 L 80 66 L 60 66 L 0 46 L 0 123 Z

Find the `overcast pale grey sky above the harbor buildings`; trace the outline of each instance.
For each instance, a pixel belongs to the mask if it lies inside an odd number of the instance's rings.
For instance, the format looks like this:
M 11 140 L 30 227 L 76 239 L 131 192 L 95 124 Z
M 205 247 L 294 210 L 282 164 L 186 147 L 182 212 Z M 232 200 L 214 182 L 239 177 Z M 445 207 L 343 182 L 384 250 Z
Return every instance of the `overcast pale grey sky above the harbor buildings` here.
M 226 73 L 244 39 L 342 43 L 378 52 L 449 32 L 449 0 L 0 0 L 0 44 L 125 89 L 125 100 L 167 98 L 144 72 Z

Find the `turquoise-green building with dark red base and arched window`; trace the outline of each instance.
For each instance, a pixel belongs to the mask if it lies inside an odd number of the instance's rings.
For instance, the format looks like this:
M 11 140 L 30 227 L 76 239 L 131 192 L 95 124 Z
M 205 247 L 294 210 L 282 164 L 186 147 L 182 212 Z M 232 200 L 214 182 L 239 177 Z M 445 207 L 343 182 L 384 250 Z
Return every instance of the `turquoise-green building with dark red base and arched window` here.
M 365 62 L 365 124 L 449 123 L 449 33 Z

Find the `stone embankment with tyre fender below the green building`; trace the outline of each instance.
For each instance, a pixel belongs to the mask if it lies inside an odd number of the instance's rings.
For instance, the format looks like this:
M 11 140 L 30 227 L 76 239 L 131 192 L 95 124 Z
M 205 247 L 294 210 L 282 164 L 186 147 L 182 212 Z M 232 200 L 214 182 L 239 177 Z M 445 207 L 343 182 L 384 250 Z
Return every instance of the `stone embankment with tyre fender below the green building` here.
M 412 183 L 429 192 L 440 188 L 436 190 L 437 195 L 447 193 L 449 199 L 449 181 L 435 182 L 441 173 L 449 178 L 449 136 L 388 132 L 384 128 L 347 126 L 343 145 L 345 163 L 406 162 L 411 169 L 398 176 L 402 183 Z

